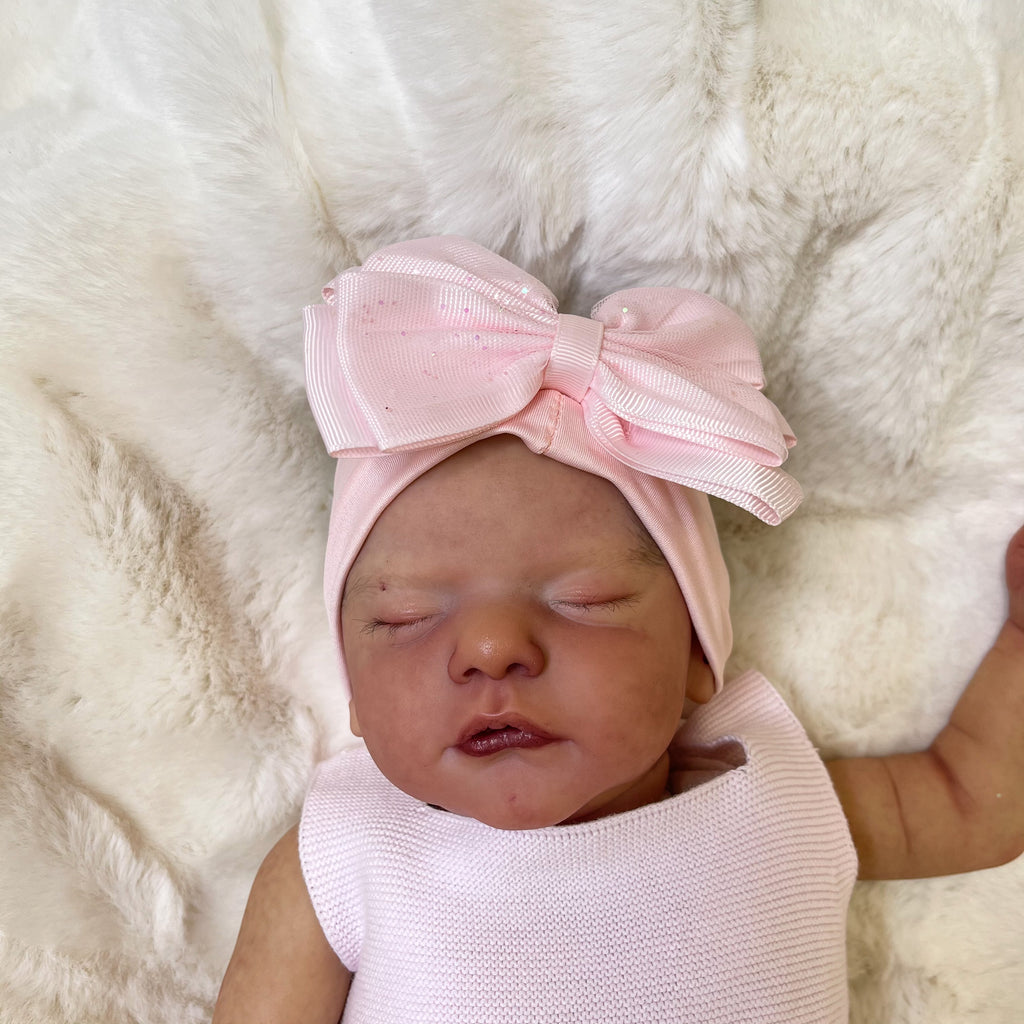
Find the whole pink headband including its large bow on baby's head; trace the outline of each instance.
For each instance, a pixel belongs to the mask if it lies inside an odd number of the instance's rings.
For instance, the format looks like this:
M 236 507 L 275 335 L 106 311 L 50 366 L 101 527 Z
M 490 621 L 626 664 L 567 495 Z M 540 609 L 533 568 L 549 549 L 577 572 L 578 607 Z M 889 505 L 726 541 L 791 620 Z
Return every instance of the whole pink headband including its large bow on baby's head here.
M 802 498 L 778 468 L 795 438 L 734 312 L 635 288 L 592 318 L 560 314 L 535 278 L 454 237 L 380 249 L 324 298 L 305 309 L 306 389 L 331 454 L 356 460 L 338 465 L 324 575 L 339 652 L 345 578 L 380 513 L 460 449 L 510 433 L 622 492 L 721 685 L 729 583 L 706 494 L 772 524 Z

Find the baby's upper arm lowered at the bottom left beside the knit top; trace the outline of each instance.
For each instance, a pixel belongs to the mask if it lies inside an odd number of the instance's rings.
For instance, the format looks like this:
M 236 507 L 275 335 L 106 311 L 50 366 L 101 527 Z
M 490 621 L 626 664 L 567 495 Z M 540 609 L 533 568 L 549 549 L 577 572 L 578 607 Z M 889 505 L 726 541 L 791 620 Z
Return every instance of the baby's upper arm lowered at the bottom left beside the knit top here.
M 253 883 L 213 1024 L 338 1024 L 350 980 L 309 902 L 296 826 Z

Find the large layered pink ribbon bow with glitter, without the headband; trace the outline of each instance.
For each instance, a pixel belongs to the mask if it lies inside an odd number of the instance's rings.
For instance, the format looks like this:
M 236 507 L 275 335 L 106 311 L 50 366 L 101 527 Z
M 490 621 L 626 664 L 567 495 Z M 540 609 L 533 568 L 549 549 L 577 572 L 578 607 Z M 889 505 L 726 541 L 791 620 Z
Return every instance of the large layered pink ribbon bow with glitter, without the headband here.
M 777 467 L 796 442 L 760 389 L 746 325 L 708 295 L 633 288 L 592 318 L 559 313 L 525 271 L 465 239 L 388 246 L 307 306 L 306 386 L 335 456 L 482 434 L 545 389 L 634 469 L 766 522 L 801 500 Z

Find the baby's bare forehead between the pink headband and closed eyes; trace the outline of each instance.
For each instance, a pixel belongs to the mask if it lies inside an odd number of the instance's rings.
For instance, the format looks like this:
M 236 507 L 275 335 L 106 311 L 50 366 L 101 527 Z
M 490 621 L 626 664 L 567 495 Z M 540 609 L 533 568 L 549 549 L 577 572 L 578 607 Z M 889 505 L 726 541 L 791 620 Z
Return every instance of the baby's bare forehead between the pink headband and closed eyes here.
M 382 586 L 511 577 L 520 566 L 524 579 L 555 581 L 665 564 L 611 481 L 500 435 L 437 463 L 392 499 L 351 564 L 342 601 Z

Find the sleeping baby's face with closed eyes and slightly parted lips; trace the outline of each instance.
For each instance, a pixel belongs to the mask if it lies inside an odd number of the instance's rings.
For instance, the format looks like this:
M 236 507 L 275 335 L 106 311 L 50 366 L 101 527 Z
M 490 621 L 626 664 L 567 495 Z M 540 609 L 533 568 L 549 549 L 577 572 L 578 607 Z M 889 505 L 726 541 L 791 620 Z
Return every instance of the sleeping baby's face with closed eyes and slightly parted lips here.
M 499 828 L 660 799 L 687 691 L 713 685 L 618 490 L 509 436 L 388 506 L 341 626 L 352 728 L 380 770 Z

